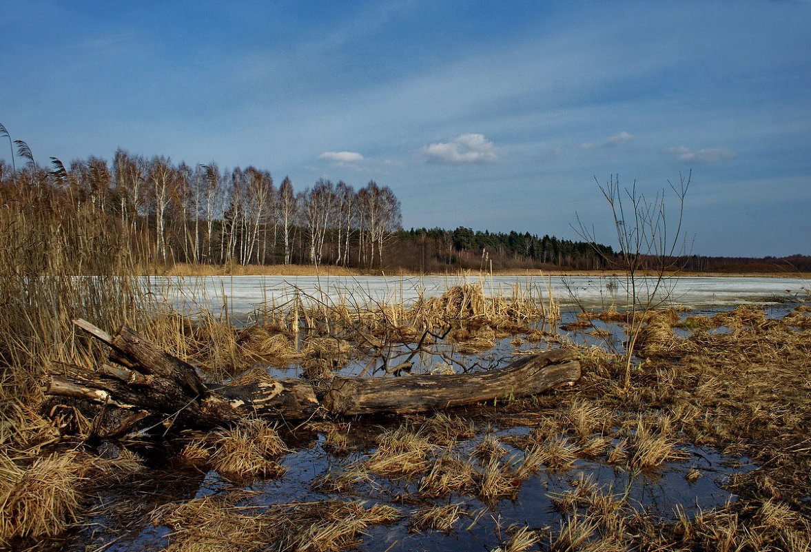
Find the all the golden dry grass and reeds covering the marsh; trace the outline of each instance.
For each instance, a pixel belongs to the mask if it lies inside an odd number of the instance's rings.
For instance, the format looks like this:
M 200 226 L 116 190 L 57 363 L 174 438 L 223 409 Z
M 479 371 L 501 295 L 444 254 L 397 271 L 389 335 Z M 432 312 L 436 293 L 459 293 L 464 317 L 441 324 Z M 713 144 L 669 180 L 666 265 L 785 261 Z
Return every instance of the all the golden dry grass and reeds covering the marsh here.
M 470 324 L 464 332 L 460 328 L 453 341 L 457 350 L 466 347 L 475 353 L 490 349 L 500 336 L 529 332 L 527 320 L 553 319 L 556 312 L 551 297 L 539 301 L 538 293 L 519 286 L 487 297 L 483 285 L 473 284 L 417 302 L 411 309 L 398 304 L 361 309 L 346 299 L 335 305 L 307 307 L 298 302 L 293 310 L 268 312 L 270 323 L 241 332 L 210 315 L 192 323 L 155 304 L 144 303 L 151 309 L 150 316 L 144 317 L 144 310 L 135 306 L 140 298 L 128 278 L 131 268 L 118 255 L 116 244 L 105 244 L 103 225 L 92 224 L 91 212 L 77 213 L 84 226 L 67 226 L 62 236 L 54 232 L 53 220 L 39 220 L 33 216 L 36 213 L 13 209 L 7 213 L 10 218 L 0 220 L 0 260 L 8 271 L 2 274 L 8 277 L 0 282 L 0 292 L 9 297 L 0 320 L 0 357 L 4 360 L 0 527 L 6 540 L 64 530 L 81 515 L 80 490 L 84 477 L 91 473 L 88 470 L 96 470 L 100 477 L 126 478 L 143 469 L 137 457 L 127 454 L 116 463 L 98 459 L 78 463 L 66 460 L 71 455 L 50 455 L 48 443 L 58 436 L 56 426 L 64 422 L 60 429 L 67 430 L 69 423 L 78 424 L 80 419 L 77 414 L 69 420 L 69 409 L 59 411 L 64 416 L 55 416 L 54 425 L 39 417 L 36 404 L 41 396 L 36 384 L 41 369 L 91 366 L 102 353 L 101 348 L 75 336 L 70 323 L 75 315 L 92 312 L 93 322 L 109 329 L 131 323 L 169 353 L 201 366 L 211 379 L 238 374 L 235 382 L 249 383 L 267 377 L 262 369 L 251 370 L 256 362 L 307 363 L 312 370 L 320 370 L 313 371 L 313 377 L 328 377 L 356 349 L 415 343 L 424 328 L 441 327 L 449 319 L 460 326 Z M 15 235 L 16 228 L 28 233 Z M 109 263 L 79 250 L 74 238 L 80 233 L 84 246 L 91 243 L 97 250 L 114 251 Z M 49 256 L 34 258 L 30 248 L 20 246 L 37 242 L 42 235 L 50 236 L 43 242 Z M 9 236 L 14 240 L 7 239 Z M 232 271 L 238 270 L 232 267 Z M 71 278 L 88 273 L 102 277 L 94 280 L 94 286 Z M 732 477 L 730 489 L 740 494 L 738 503 L 674 524 L 654 524 L 617 506 L 611 490 L 594 490 L 582 483 L 576 507 L 585 508 L 586 514 L 569 516 L 551 537 L 551 549 L 619 550 L 621 544 L 648 550 L 807 550 L 809 310 L 800 306 L 782 321 L 767 319 L 754 307 L 741 307 L 712 319 L 688 318 L 684 323 L 667 311 L 640 316 L 644 325 L 637 352 L 642 358 L 632 386 L 623 389 L 617 385 L 616 357 L 611 353 L 582 349 L 584 378 L 577 387 L 554 397 L 517 400 L 504 408 L 505 412 L 546 408 L 545 415 L 549 409 L 556 411 L 543 418 L 530 439 L 521 443 L 521 463 L 504 461 L 495 437 L 478 450 L 478 463 L 459 456 L 454 443 L 473 437 L 472 422 L 455 414 L 440 414 L 421 418 L 418 430 L 404 428 L 401 434 L 392 430 L 384 435 L 380 455 L 375 458 L 375 452 L 367 459 L 371 466 L 350 466 L 344 473 L 325 477 L 323 488 L 341 493 L 353 486 L 374 486 L 374 477 L 384 474 L 418 479 L 427 496 L 456 493 L 487 499 L 509 496 L 533 473 L 544 468 L 567 469 L 579 457 L 605 456 L 624 469 L 642 470 L 684 459 L 682 443 L 706 444 L 746 454 L 762 466 L 755 473 Z M 629 322 L 628 315 L 616 310 L 583 319 Z M 714 335 L 702 331 L 721 325 L 730 332 Z M 680 339 L 672 331 L 676 326 L 696 332 Z M 320 332 L 341 334 L 341 338 L 327 338 Z M 527 334 L 530 340 L 547 337 L 541 331 Z M 54 347 L 55 343 L 64 346 Z M 328 435 L 326 447 L 345 450 L 345 431 L 336 429 Z M 615 445 L 611 439 L 616 439 Z M 201 469 L 212 465 L 241 481 L 276 477 L 281 473 L 276 460 L 284 454 L 284 443 L 280 443 L 272 427 L 248 424 L 193 442 L 181 456 L 188 464 Z M 44 456 L 35 460 L 40 453 Z M 167 508 L 161 523 L 174 528 L 170 548 L 337 550 L 353 546 L 368 524 L 395 517 L 390 508 L 375 511 L 333 502 L 272 507 L 257 515 L 242 507 L 242 499 L 192 500 L 174 505 L 174 511 Z M 440 518 L 442 513 L 437 510 L 433 516 Z M 458 513 L 453 508 L 444 511 L 447 519 Z M 532 546 L 527 544 L 532 538 L 527 533 L 505 542 L 502 548 L 525 550 Z

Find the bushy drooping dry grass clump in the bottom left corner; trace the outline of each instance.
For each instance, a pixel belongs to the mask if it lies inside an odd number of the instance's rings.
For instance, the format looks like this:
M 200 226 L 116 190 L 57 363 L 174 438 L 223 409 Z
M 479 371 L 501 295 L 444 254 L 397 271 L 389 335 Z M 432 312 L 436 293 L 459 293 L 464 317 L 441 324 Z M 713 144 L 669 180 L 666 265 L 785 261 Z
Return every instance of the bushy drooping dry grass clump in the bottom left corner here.
M 79 516 L 85 469 L 71 453 L 45 456 L 27 469 L 0 455 L 0 543 L 62 533 Z

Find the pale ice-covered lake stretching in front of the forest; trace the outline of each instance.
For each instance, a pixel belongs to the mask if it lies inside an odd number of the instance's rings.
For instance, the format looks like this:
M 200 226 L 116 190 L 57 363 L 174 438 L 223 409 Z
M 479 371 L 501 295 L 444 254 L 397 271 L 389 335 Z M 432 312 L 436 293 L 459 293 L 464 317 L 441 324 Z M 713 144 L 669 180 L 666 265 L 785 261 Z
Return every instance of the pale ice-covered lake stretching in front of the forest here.
M 627 282 L 611 276 L 152 276 L 144 279 L 157 302 L 182 312 L 210 310 L 214 315 L 250 319 L 263 306 L 281 306 L 298 295 L 303 301 L 351 306 L 413 302 L 438 297 L 455 285 L 483 285 L 487 295 L 512 294 L 516 287 L 536 301 L 553 297 L 562 310 L 590 309 L 629 303 Z M 655 280 L 637 280 L 646 297 Z M 808 301 L 811 280 L 732 276 L 681 276 L 665 280 L 658 295 L 665 304 L 697 309 L 744 303 Z

